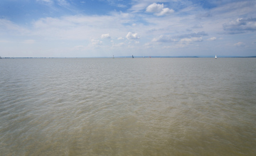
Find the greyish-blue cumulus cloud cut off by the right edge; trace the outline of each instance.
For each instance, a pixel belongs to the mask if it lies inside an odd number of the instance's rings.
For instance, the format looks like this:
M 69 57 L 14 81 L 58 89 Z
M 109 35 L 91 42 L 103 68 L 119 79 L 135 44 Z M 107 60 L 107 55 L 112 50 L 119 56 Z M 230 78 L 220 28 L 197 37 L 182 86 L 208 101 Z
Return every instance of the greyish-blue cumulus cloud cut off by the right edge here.
M 230 34 L 247 33 L 256 30 L 256 18 L 238 18 L 223 24 L 223 29 Z

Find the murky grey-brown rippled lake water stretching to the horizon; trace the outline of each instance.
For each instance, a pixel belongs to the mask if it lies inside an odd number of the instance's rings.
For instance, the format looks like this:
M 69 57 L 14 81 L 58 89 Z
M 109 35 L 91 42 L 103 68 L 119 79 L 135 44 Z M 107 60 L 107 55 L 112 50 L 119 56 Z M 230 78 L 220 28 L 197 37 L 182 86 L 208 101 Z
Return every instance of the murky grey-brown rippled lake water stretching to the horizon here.
M 256 59 L 0 60 L 1 155 L 255 155 Z

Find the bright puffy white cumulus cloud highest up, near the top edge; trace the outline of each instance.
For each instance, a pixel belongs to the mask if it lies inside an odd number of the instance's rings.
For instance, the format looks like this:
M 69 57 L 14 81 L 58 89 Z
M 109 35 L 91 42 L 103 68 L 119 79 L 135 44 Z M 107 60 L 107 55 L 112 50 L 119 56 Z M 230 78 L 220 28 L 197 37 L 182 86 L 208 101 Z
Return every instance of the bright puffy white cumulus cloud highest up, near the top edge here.
M 154 13 L 156 16 L 164 16 L 169 13 L 174 13 L 173 9 L 164 8 L 164 4 L 150 4 L 146 7 L 146 12 Z

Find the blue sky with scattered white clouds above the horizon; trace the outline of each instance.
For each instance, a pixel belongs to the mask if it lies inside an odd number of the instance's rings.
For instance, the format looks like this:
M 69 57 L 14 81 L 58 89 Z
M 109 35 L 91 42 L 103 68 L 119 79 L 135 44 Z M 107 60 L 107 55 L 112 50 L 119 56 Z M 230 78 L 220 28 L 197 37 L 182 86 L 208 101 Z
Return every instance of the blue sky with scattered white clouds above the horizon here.
M 256 56 L 255 0 L 1 0 L 1 57 Z

